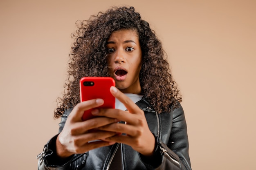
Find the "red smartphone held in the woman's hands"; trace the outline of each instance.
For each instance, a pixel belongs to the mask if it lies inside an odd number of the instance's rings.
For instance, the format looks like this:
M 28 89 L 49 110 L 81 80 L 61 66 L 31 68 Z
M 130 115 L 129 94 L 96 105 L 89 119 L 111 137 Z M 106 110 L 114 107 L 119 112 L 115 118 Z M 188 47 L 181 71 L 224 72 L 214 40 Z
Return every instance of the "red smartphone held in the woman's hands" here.
M 115 108 L 115 97 L 110 93 L 110 87 L 115 86 L 112 77 L 83 77 L 80 80 L 80 100 L 81 102 L 101 98 L 104 104 L 98 108 Z M 92 109 L 85 110 L 82 120 L 94 117 Z

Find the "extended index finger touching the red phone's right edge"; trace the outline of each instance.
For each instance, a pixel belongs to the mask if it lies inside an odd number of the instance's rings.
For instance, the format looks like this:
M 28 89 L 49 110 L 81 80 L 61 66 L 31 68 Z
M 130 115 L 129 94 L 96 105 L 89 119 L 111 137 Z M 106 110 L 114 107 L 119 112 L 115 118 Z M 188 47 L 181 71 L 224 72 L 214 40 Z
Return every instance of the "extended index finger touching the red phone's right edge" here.
M 139 107 L 134 102 L 132 102 L 129 97 L 119 91 L 115 86 L 110 87 L 110 93 L 120 102 L 122 102 L 130 113 L 137 113 L 136 110 L 140 110 Z

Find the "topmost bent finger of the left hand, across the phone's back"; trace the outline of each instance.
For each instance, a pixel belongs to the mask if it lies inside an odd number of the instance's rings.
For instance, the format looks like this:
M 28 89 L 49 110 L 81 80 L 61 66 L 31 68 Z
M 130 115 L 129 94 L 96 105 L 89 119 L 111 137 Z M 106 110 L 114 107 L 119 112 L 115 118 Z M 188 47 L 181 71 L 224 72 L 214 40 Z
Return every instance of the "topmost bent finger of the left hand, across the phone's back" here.
M 104 103 L 103 99 L 92 99 L 87 100 L 85 102 L 81 102 L 76 104 L 73 108 L 72 112 L 70 113 L 70 120 L 71 121 L 82 121 L 82 116 L 85 110 L 89 110 L 91 108 L 95 108 L 101 106 Z

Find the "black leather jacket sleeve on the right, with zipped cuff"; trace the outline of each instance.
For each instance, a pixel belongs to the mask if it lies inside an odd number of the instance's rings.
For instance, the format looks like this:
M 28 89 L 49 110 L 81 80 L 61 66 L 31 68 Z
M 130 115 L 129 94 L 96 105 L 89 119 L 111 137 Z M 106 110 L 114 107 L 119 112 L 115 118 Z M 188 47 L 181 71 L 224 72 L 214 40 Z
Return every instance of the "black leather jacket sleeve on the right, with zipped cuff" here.
M 189 141 L 186 120 L 182 106 L 173 110 L 173 122 L 168 144 L 155 136 L 155 152 L 153 158 L 147 160 L 140 155 L 148 170 L 191 170 L 189 158 Z

